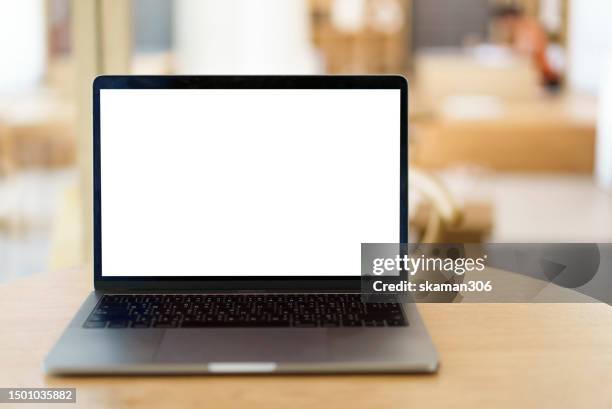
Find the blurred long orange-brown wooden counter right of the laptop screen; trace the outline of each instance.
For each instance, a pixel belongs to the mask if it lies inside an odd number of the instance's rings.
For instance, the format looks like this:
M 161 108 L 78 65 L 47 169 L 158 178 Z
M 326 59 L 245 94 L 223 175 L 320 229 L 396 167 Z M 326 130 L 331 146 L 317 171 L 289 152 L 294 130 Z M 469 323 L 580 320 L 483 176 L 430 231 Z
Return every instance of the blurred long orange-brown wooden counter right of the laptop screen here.
M 591 173 L 595 122 L 575 117 L 572 103 L 571 99 L 505 103 L 503 113 L 495 118 L 440 114 L 434 120 L 413 124 L 411 159 L 430 169 L 469 165 Z

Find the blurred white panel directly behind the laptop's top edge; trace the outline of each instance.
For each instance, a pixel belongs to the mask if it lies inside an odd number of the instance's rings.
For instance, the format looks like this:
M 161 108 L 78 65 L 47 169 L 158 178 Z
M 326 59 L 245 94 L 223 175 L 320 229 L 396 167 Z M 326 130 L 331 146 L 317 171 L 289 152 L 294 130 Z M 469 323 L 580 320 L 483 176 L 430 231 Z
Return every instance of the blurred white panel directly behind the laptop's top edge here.
M 177 0 L 179 74 L 312 74 L 306 0 Z

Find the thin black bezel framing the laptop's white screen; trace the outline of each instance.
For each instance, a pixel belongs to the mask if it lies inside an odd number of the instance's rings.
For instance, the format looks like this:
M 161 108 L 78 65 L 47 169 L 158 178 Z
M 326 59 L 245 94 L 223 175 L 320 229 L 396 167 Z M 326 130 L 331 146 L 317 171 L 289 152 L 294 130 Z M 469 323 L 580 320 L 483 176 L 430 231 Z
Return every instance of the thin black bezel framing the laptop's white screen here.
M 103 75 L 93 82 L 93 269 L 96 290 L 349 290 L 359 276 L 103 276 L 100 157 L 102 89 L 398 89 L 400 90 L 400 243 L 408 241 L 408 82 L 400 75 L 325 76 L 129 76 Z M 237 237 L 237 241 L 240 238 Z

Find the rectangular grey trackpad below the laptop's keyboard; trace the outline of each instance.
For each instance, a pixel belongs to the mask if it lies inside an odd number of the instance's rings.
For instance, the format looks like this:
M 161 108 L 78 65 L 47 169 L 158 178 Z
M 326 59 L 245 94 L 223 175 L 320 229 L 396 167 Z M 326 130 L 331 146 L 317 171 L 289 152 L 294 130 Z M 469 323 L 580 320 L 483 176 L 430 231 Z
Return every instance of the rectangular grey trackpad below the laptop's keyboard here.
M 167 330 L 157 362 L 311 362 L 329 356 L 324 328 Z

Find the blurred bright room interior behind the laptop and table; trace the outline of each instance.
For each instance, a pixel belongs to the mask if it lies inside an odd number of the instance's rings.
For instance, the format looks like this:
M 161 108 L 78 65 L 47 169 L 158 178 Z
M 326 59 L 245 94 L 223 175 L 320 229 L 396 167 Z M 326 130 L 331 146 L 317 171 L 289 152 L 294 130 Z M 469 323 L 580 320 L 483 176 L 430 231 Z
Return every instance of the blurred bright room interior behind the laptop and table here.
M 610 22 L 609 0 L 0 0 L 0 281 L 91 262 L 108 73 L 405 75 L 414 239 L 610 242 Z

